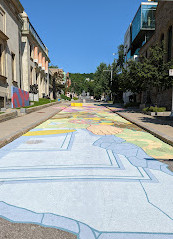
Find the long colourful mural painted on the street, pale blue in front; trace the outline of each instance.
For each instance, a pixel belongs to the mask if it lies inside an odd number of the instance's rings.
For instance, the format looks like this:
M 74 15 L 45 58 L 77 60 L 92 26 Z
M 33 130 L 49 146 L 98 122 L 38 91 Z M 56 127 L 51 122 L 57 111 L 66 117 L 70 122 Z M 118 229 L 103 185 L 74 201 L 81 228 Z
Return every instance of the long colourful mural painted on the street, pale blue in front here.
M 173 148 L 103 106 L 61 113 L 0 150 L 0 215 L 78 239 L 173 238 Z

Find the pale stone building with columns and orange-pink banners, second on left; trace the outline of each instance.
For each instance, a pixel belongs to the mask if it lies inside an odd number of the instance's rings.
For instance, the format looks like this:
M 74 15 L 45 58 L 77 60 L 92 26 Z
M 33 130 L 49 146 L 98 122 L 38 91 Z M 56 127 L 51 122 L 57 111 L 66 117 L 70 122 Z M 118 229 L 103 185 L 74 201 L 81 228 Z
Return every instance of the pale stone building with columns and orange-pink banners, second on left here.
M 28 15 L 21 14 L 22 27 L 22 67 L 23 89 L 38 85 L 39 98 L 49 95 L 48 49 L 29 21 Z

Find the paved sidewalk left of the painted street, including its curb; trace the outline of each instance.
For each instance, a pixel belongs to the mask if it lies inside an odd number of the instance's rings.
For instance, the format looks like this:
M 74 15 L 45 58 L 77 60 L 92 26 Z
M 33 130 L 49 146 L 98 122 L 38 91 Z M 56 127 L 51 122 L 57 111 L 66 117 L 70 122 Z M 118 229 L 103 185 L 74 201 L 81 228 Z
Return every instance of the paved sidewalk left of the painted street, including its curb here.
M 66 108 L 69 103 L 55 104 L 36 112 L 0 123 L 0 148 L 20 137 Z

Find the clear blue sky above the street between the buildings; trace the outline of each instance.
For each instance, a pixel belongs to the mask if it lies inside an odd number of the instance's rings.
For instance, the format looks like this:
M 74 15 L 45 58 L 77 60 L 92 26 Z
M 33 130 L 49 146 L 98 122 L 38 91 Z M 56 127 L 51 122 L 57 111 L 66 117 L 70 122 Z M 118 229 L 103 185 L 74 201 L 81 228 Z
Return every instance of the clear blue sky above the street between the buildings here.
M 51 63 L 65 72 L 95 72 L 112 63 L 140 0 L 21 0 L 49 49 Z

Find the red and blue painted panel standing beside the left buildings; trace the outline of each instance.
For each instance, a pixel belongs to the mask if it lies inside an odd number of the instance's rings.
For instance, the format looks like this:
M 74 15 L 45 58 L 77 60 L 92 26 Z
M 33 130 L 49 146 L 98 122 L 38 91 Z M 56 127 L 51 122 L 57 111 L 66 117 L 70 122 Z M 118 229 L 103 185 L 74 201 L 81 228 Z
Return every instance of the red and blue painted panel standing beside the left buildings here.
M 12 108 L 29 106 L 29 92 L 11 86 Z

